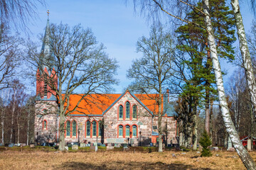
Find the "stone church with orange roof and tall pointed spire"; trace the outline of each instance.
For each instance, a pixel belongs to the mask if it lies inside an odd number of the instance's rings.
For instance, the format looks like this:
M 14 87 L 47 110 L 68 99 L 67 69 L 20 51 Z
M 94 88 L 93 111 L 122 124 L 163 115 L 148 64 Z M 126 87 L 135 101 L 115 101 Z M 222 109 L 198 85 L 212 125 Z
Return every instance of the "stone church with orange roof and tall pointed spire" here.
M 47 41 L 49 37 L 49 19 L 43 38 L 43 60 L 54 57 Z M 42 74 L 53 74 L 54 69 L 43 64 L 36 73 L 36 114 L 35 140 L 42 142 L 59 142 L 58 103 L 54 91 L 45 81 L 39 80 Z M 43 70 L 43 71 L 41 71 Z M 58 86 L 58 77 L 53 77 Z M 156 145 L 158 139 L 159 106 L 156 104 L 158 94 L 91 94 L 83 100 L 77 110 L 65 118 L 65 142 L 101 142 L 130 143 L 132 146 Z M 175 111 L 169 103 L 169 91 L 162 96 L 163 141 L 166 144 L 176 142 Z M 70 96 L 70 106 L 76 106 L 80 96 Z

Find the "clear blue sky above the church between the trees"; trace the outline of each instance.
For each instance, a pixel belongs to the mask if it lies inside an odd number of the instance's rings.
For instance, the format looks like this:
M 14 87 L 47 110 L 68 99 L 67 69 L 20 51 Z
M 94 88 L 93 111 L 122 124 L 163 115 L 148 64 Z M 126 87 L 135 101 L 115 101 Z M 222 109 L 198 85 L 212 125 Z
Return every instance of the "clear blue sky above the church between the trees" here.
M 248 32 L 253 18 L 252 12 L 248 9 L 246 1 L 242 2 L 241 8 L 245 29 Z M 32 38 L 44 33 L 48 9 L 50 23 L 63 22 L 70 26 L 81 23 L 84 28 L 92 29 L 98 42 L 102 42 L 107 48 L 109 56 L 119 62 L 119 85 L 114 86 L 114 89 L 115 93 L 122 93 L 130 82 L 126 78 L 127 69 L 131 66 L 132 60 L 142 56 L 136 52 L 136 42 L 142 35 L 149 36 L 150 27 L 146 23 L 146 18 L 134 13 L 132 1 L 125 4 L 123 0 L 46 0 L 46 6 L 38 6 L 38 19 L 28 26 L 33 33 Z M 222 63 L 222 67 L 233 70 L 233 65 L 225 62 Z

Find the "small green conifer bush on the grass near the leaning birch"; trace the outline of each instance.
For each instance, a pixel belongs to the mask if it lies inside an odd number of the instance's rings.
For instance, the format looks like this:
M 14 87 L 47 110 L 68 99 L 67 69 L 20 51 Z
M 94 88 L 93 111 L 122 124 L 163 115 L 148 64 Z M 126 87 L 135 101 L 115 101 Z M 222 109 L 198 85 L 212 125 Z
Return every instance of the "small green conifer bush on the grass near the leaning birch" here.
M 203 136 L 199 140 L 200 145 L 203 147 L 203 150 L 201 152 L 201 157 L 210 157 L 212 154 L 210 153 L 210 137 L 207 134 L 206 130 L 203 132 Z

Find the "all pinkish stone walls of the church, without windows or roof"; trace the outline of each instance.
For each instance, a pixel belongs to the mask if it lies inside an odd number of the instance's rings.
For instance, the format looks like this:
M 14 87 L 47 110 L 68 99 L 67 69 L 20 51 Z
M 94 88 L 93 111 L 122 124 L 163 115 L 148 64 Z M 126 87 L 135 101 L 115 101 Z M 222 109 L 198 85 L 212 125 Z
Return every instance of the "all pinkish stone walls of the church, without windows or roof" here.
M 125 103 L 129 101 L 130 103 L 130 114 L 132 114 L 132 106 L 137 106 L 137 119 L 122 119 L 118 118 L 118 109 L 122 105 L 124 107 L 125 115 Z M 56 114 L 57 105 L 55 101 L 37 101 L 36 102 L 36 117 L 35 117 L 35 140 L 37 142 L 58 142 L 59 138 L 59 120 Z M 46 110 L 46 112 L 44 111 Z M 152 117 L 151 113 L 146 111 L 144 106 L 142 106 L 131 94 L 126 93 L 122 98 L 117 101 L 117 103 L 110 108 L 105 115 L 99 115 L 94 117 L 88 117 L 86 115 L 81 116 L 70 116 L 67 117 L 65 121 L 69 120 L 70 123 L 73 120 L 77 123 L 77 135 L 70 137 L 65 137 L 65 142 L 101 142 L 105 144 L 110 143 L 128 143 L 132 146 L 138 145 L 149 145 L 151 143 L 152 132 L 157 132 L 157 117 Z M 47 129 L 43 129 L 43 120 L 47 121 Z M 104 130 L 102 130 L 102 137 L 97 136 L 86 136 L 86 122 L 89 120 L 96 120 L 97 124 L 100 120 L 104 122 Z M 137 125 L 137 137 L 117 137 L 118 126 L 123 125 L 124 129 L 126 125 Z M 155 127 L 156 129 L 152 128 Z M 167 144 L 176 143 L 176 120 L 174 117 L 164 116 L 162 118 L 162 128 L 164 130 L 165 140 Z M 91 124 L 92 129 L 92 124 Z M 98 126 L 97 126 L 98 130 Z M 72 131 L 71 131 L 72 132 Z M 70 132 L 70 133 L 71 133 Z M 125 130 L 124 130 L 125 132 Z M 92 131 L 91 131 L 92 133 Z M 79 137 L 78 137 L 79 134 Z M 129 139 L 128 139 L 129 138 Z

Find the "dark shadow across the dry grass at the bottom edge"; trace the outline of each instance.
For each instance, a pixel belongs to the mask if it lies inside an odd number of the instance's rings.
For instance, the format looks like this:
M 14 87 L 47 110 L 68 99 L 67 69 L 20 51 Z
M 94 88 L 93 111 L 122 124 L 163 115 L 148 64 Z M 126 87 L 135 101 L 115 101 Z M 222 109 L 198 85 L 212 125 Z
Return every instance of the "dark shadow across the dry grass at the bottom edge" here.
M 86 162 L 65 162 L 60 166 L 55 166 L 54 169 L 193 169 L 193 166 L 187 164 L 165 164 L 163 162 L 107 162 L 102 164 L 91 164 Z M 210 169 L 204 169 L 210 170 Z

